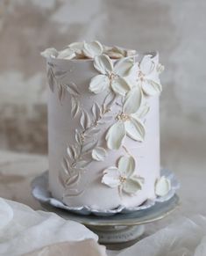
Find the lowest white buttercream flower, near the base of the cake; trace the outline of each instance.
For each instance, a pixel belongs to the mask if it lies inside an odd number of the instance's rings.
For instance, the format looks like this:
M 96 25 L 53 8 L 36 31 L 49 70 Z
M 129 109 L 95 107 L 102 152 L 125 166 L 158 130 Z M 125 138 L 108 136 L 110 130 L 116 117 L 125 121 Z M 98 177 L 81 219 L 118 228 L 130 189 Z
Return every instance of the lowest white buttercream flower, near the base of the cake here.
M 119 191 L 136 194 L 143 186 L 144 179 L 134 174 L 133 157 L 120 157 L 117 167 L 109 167 L 103 171 L 102 183 L 108 187 L 118 187 Z

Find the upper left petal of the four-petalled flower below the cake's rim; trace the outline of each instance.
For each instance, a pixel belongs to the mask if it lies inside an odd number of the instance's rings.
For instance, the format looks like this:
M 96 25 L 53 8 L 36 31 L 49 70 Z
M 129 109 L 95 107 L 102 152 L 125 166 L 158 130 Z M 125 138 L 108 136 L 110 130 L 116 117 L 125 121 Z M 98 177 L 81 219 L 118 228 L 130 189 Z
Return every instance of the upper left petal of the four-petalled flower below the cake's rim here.
M 95 57 L 94 67 L 101 74 L 110 75 L 111 71 L 113 70 L 113 63 L 107 55 L 100 55 Z

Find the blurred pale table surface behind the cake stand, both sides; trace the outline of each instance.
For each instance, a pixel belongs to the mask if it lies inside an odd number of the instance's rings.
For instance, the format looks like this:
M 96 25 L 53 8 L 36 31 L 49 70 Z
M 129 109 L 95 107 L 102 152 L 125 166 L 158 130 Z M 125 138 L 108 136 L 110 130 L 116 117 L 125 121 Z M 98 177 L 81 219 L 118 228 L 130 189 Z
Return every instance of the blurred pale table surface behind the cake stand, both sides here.
M 187 152 L 183 150 L 180 159 L 175 158 L 175 154 L 171 152 L 167 164 L 174 166 L 173 171 L 181 180 L 181 189 L 178 191 L 181 206 L 165 219 L 146 224 L 145 236 L 172 223 L 178 216 L 206 215 L 203 203 L 206 201 L 206 159 L 187 157 L 186 161 Z M 35 176 L 46 171 L 47 166 L 46 156 L 0 151 L 0 197 L 25 203 L 33 209 L 42 209 L 39 202 L 32 198 L 30 183 Z

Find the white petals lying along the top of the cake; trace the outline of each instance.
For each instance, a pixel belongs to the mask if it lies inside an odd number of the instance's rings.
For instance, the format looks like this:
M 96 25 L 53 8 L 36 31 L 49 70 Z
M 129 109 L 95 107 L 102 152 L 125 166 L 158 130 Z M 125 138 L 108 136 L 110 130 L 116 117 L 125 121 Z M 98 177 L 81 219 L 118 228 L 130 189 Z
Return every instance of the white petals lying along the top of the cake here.
M 95 40 L 92 42 L 74 42 L 67 45 L 63 50 L 55 48 L 47 48 L 41 53 L 44 57 L 52 57 L 56 59 L 93 59 L 99 55 L 107 55 L 111 59 L 121 59 L 128 56 L 136 55 L 137 51 L 120 47 L 108 47 Z

